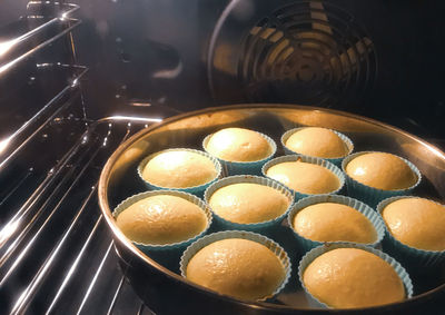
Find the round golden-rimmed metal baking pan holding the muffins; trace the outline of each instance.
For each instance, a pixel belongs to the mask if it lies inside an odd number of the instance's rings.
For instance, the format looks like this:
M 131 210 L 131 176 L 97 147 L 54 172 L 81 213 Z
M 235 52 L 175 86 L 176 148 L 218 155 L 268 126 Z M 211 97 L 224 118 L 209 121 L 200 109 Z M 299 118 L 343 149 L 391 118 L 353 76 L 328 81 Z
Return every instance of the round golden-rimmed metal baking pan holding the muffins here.
M 286 130 L 300 126 L 338 130 L 353 140 L 355 151 L 393 152 L 416 165 L 423 179 L 414 195 L 436 200 L 445 198 L 445 154 L 413 135 L 376 120 L 293 105 L 236 105 L 171 117 L 139 131 L 120 145 L 107 161 L 99 180 L 101 211 L 112 232 L 120 264 L 138 295 L 156 313 L 267 314 L 310 309 L 296 275 L 303 253 L 295 248 L 291 233 L 286 228 L 283 228 L 283 238 L 277 240 L 290 252 L 293 274 L 289 284 L 274 301 L 256 303 L 214 293 L 181 278 L 177 269 L 170 270 L 159 265 L 123 236 L 111 215 L 121 200 L 147 190 L 137 175 L 137 166 L 144 157 L 167 148 L 201 149 L 202 139 L 208 134 L 235 126 L 271 137 L 278 146 L 276 156 L 284 155 L 279 138 Z M 429 309 L 437 313 L 441 309 L 441 298 L 445 297 L 445 266 L 408 272 L 414 283 L 413 298 L 362 311 L 406 314 Z

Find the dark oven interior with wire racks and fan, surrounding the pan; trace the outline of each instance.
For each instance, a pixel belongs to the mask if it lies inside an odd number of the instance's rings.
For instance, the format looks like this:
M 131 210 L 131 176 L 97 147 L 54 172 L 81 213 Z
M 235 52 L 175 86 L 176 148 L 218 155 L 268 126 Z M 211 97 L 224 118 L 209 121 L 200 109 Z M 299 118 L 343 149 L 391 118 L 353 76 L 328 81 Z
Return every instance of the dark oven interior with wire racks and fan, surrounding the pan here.
M 118 266 L 97 184 L 116 148 L 162 118 L 227 104 L 312 105 L 443 148 L 443 7 L 0 3 L 0 308 L 151 314 Z

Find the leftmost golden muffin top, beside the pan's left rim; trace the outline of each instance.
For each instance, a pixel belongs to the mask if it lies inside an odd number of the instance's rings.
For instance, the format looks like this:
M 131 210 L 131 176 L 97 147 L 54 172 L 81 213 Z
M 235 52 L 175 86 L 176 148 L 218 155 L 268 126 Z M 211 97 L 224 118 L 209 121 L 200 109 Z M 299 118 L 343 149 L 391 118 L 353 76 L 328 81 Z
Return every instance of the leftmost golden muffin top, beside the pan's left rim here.
M 129 239 L 146 245 L 180 243 L 207 227 L 207 216 L 198 205 L 171 195 L 139 200 L 120 213 L 116 222 Z

